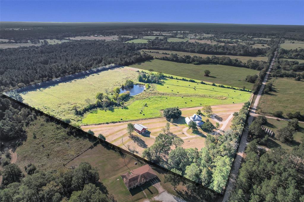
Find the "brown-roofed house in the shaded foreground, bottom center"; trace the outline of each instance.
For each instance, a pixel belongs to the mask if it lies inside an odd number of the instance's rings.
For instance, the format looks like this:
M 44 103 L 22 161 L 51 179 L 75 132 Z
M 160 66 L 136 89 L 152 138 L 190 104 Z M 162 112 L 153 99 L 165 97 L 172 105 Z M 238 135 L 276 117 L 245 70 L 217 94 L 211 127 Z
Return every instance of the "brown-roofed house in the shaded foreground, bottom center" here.
M 154 173 L 154 170 L 148 164 L 121 175 L 128 190 L 138 187 L 156 177 L 157 175 Z

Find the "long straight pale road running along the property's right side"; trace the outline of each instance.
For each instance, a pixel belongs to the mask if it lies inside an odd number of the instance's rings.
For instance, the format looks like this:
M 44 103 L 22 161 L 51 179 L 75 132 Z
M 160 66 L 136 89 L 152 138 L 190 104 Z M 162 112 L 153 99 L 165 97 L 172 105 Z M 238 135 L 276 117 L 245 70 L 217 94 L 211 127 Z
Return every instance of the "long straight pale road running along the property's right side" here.
M 250 107 L 250 111 L 249 111 L 249 117 L 248 117 L 248 125 L 250 125 L 254 119 L 254 116 L 256 116 L 256 109 L 257 109 L 257 104 L 259 103 L 260 101 L 260 98 L 261 98 L 261 95 L 262 95 L 262 92 L 264 90 L 264 87 L 265 87 L 265 84 L 267 82 L 267 79 L 268 79 L 268 76 L 270 74 L 270 71 L 272 69 L 272 66 L 275 62 L 275 57 L 277 56 L 277 51 L 275 52 L 275 55 L 271 61 L 271 64 L 268 68 L 268 71 L 266 73 L 266 76 L 262 82 L 262 85 L 261 85 L 261 88 L 259 90 L 259 92 L 257 93 L 257 96 L 256 96 L 256 99 L 254 101 L 254 104 Z M 230 172 L 230 176 L 229 176 L 229 180 L 228 180 L 228 183 L 227 183 L 227 187 L 226 187 L 226 191 L 224 193 L 224 197 L 223 197 L 223 202 L 226 202 L 229 200 L 229 196 L 230 196 L 230 193 L 231 193 L 231 190 L 233 189 L 233 185 L 235 183 L 235 180 L 237 178 L 237 174 L 239 172 L 239 169 L 240 169 L 240 166 L 241 166 L 241 162 L 243 160 L 243 154 L 244 154 L 244 150 L 245 150 L 245 147 L 246 145 L 248 144 L 247 142 L 247 136 L 248 136 L 248 127 L 246 127 L 243 131 L 243 134 L 242 134 L 242 137 L 241 137 L 241 140 L 240 140 L 240 144 L 239 144 L 239 147 L 238 147 L 238 150 L 237 150 L 237 155 L 233 161 L 233 165 L 232 165 L 232 170 Z

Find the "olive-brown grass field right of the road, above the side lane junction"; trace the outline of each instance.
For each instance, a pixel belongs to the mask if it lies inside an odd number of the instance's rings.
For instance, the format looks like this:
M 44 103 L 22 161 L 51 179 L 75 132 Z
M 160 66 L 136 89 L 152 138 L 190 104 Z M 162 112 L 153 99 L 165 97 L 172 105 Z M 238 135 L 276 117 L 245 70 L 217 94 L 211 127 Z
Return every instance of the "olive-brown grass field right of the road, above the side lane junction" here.
M 259 113 L 272 114 L 282 110 L 288 112 L 300 111 L 304 114 L 304 82 L 292 78 L 273 79 L 273 91 L 263 95 L 258 105 Z

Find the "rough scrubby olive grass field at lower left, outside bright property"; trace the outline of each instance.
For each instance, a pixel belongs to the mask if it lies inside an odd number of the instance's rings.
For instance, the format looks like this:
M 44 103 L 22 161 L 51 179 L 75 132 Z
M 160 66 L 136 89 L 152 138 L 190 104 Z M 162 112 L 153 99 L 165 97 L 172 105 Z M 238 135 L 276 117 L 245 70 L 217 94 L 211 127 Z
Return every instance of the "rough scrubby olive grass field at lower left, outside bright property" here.
M 39 169 L 57 169 L 88 149 L 96 140 L 67 135 L 67 130 L 38 116 L 26 127 L 26 141 L 16 149 L 17 164 L 34 163 Z M 36 138 L 33 138 L 33 134 Z

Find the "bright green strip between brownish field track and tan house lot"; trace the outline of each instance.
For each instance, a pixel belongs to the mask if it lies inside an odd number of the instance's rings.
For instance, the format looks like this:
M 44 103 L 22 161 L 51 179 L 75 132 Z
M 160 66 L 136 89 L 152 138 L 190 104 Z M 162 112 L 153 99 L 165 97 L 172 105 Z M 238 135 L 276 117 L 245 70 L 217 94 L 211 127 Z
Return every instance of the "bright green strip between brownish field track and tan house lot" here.
M 240 91 L 241 92 L 241 91 Z M 249 96 L 250 97 L 250 96 Z M 161 117 L 162 109 L 169 107 L 196 107 L 202 105 L 220 105 L 220 104 L 232 104 L 234 103 L 244 103 L 249 100 L 248 96 L 226 99 L 216 99 L 208 97 L 192 97 L 192 96 L 149 96 L 149 98 L 136 100 L 134 97 L 126 104 L 126 107 L 113 108 L 113 109 L 96 109 L 87 113 L 82 120 L 82 124 L 98 124 L 107 122 L 117 122 L 117 121 L 129 121 L 147 118 Z M 247 99 L 248 98 L 248 99 Z M 191 101 L 192 100 L 192 101 Z M 147 106 L 145 104 L 147 103 Z M 143 110 L 141 112 L 141 110 Z M 140 113 L 141 112 L 141 113 Z

